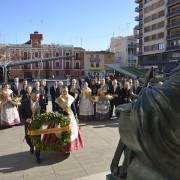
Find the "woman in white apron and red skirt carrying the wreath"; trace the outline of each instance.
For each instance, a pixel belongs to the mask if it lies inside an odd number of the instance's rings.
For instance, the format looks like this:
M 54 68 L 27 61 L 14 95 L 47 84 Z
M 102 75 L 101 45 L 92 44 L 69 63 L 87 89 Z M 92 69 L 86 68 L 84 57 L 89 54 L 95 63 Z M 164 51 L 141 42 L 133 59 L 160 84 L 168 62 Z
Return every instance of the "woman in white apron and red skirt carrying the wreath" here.
M 64 147 L 63 152 L 70 153 L 71 151 L 82 149 L 84 147 L 84 142 L 77 124 L 77 112 L 75 109 L 74 97 L 68 94 L 67 86 L 63 87 L 62 94 L 58 98 L 56 98 L 56 103 L 60 106 L 60 112 L 63 113 L 70 121 L 70 143 Z M 43 142 L 55 143 L 57 138 L 60 137 L 60 134 L 45 135 L 43 138 Z

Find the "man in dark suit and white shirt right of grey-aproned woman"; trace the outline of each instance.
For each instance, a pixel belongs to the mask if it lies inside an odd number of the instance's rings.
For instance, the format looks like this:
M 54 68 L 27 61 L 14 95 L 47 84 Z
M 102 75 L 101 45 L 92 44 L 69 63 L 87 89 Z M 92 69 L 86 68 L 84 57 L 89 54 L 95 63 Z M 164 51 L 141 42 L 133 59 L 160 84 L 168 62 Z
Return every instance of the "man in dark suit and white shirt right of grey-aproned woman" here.
M 113 99 L 110 100 L 110 104 L 111 104 L 110 117 L 112 118 L 114 107 L 120 104 L 120 96 L 121 96 L 120 95 L 121 89 L 116 79 L 112 81 L 112 85 L 109 87 L 109 94 L 113 96 Z

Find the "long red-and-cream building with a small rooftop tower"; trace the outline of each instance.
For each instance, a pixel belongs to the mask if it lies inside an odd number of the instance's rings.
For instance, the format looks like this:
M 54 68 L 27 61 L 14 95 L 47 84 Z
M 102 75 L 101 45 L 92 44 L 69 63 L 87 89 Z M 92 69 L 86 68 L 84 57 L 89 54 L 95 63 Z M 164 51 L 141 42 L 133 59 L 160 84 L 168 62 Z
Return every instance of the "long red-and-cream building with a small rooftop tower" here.
M 0 46 L 1 61 L 26 61 L 27 59 L 73 56 L 56 61 L 39 62 L 10 68 L 10 76 L 22 78 L 50 78 L 64 75 L 81 76 L 84 73 L 84 52 L 73 45 L 42 44 L 43 34 L 34 32 L 23 44 L 3 44 Z

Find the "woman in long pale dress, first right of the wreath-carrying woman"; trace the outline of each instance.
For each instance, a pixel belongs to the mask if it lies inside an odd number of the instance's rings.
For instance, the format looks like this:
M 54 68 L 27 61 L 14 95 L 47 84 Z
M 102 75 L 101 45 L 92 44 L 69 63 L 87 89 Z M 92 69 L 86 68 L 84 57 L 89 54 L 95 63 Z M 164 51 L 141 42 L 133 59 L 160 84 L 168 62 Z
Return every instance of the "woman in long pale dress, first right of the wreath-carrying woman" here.
M 81 90 L 80 103 L 79 103 L 79 115 L 80 120 L 91 119 L 94 115 L 94 107 L 91 101 L 91 89 L 88 87 L 88 83 L 85 82 Z

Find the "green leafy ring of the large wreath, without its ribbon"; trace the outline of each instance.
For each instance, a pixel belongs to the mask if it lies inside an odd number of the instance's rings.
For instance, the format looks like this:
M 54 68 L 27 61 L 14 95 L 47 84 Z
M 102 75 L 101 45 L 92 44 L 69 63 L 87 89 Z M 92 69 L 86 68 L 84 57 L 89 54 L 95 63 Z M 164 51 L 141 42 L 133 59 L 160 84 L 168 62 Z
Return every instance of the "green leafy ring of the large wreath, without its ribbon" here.
M 58 124 L 63 128 L 69 125 L 69 120 L 64 117 L 63 114 L 48 112 L 38 116 L 35 121 L 30 124 L 29 130 L 41 129 L 42 125 L 49 123 Z M 43 151 L 61 151 L 70 142 L 70 135 L 71 132 L 62 132 L 61 138 L 57 138 L 56 142 L 53 144 L 47 144 L 41 141 L 41 135 L 33 135 L 30 136 L 30 138 L 36 149 Z

